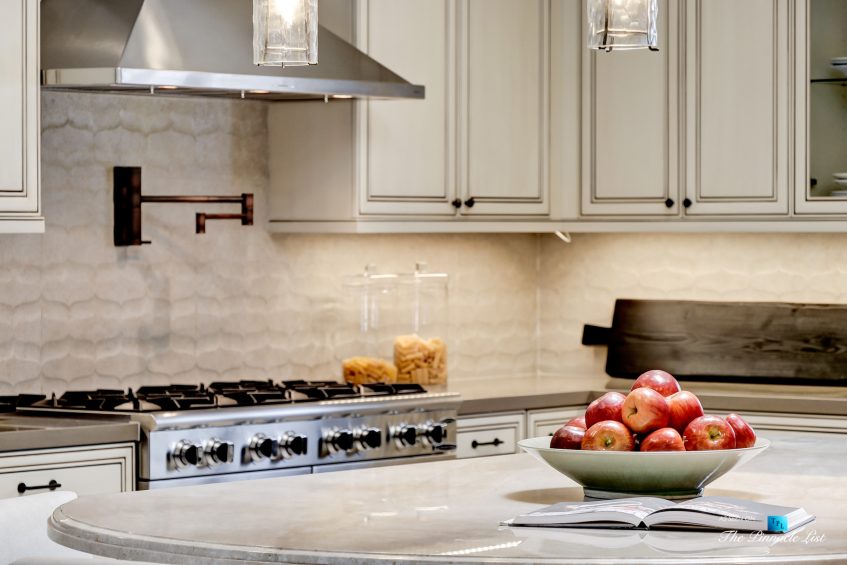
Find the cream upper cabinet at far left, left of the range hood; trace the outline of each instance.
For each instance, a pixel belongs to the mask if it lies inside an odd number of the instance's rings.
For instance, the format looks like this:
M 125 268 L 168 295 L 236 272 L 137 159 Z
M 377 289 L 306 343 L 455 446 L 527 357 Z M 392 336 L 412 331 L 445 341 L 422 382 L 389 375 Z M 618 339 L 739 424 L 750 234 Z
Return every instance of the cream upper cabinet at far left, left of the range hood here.
M 0 233 L 44 231 L 38 18 L 38 0 L 0 4 Z

